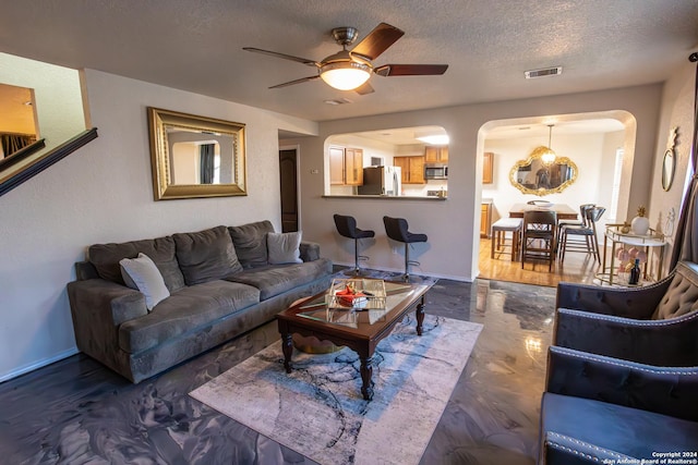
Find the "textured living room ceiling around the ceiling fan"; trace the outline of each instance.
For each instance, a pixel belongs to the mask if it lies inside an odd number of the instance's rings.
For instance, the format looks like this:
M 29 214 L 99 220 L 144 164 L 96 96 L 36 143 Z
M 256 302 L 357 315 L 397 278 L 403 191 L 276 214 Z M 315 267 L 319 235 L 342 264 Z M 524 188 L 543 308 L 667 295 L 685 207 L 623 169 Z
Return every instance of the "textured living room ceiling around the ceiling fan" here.
M 257 47 L 321 60 L 329 36 L 380 22 L 406 32 L 375 60 L 448 63 L 443 76 L 373 76 L 374 94 L 250 53 Z M 44 0 L 5 1 L 0 50 L 323 121 L 664 81 L 698 42 L 696 0 Z M 524 72 L 563 66 L 557 77 Z M 330 106 L 328 99 L 351 103 Z

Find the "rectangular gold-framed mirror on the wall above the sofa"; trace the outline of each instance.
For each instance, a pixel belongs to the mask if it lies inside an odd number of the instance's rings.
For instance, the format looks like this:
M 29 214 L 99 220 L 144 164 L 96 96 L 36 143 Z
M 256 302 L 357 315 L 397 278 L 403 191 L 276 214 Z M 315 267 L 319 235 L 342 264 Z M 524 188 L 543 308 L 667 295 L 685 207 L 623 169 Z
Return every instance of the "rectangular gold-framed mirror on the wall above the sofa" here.
M 248 195 L 244 124 L 147 111 L 156 200 Z

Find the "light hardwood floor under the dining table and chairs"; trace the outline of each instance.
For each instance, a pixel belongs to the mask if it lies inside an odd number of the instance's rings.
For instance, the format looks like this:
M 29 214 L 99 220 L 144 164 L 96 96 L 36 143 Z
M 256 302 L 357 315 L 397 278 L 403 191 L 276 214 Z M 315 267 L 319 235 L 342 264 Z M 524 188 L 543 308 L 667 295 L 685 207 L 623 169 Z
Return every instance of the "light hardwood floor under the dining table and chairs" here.
M 594 274 L 600 268 L 591 254 L 567 253 L 565 261 L 556 260 L 550 272 L 547 264 L 542 261 L 527 261 L 521 269 L 520 261 L 512 261 L 508 249 L 502 254 L 495 253 L 494 259 L 490 258 L 491 244 L 490 238 L 480 240 L 478 278 L 555 287 L 559 281 L 593 284 Z

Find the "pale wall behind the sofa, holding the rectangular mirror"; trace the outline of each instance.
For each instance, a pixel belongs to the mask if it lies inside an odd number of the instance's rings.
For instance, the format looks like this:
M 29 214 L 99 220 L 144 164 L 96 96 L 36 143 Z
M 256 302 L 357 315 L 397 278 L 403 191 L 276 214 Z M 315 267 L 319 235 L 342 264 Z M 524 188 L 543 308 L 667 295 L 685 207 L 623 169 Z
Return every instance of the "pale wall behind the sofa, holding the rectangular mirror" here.
M 252 107 L 85 73 L 99 137 L 0 197 L 0 380 L 73 354 L 65 284 L 94 243 L 269 219 L 280 231 L 278 130 L 317 124 Z M 246 124 L 244 197 L 153 200 L 146 107 Z

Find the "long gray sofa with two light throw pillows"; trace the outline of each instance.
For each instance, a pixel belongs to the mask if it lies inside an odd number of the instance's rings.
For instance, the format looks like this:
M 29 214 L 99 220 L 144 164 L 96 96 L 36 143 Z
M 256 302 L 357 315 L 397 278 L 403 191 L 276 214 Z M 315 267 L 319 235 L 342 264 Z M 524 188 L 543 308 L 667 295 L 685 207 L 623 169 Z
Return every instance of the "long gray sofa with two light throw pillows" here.
M 270 321 L 329 286 L 332 261 L 298 242 L 261 221 L 93 245 L 68 284 L 77 347 L 140 382 Z M 144 281 L 164 295 L 140 290 L 134 264 L 154 264 Z

